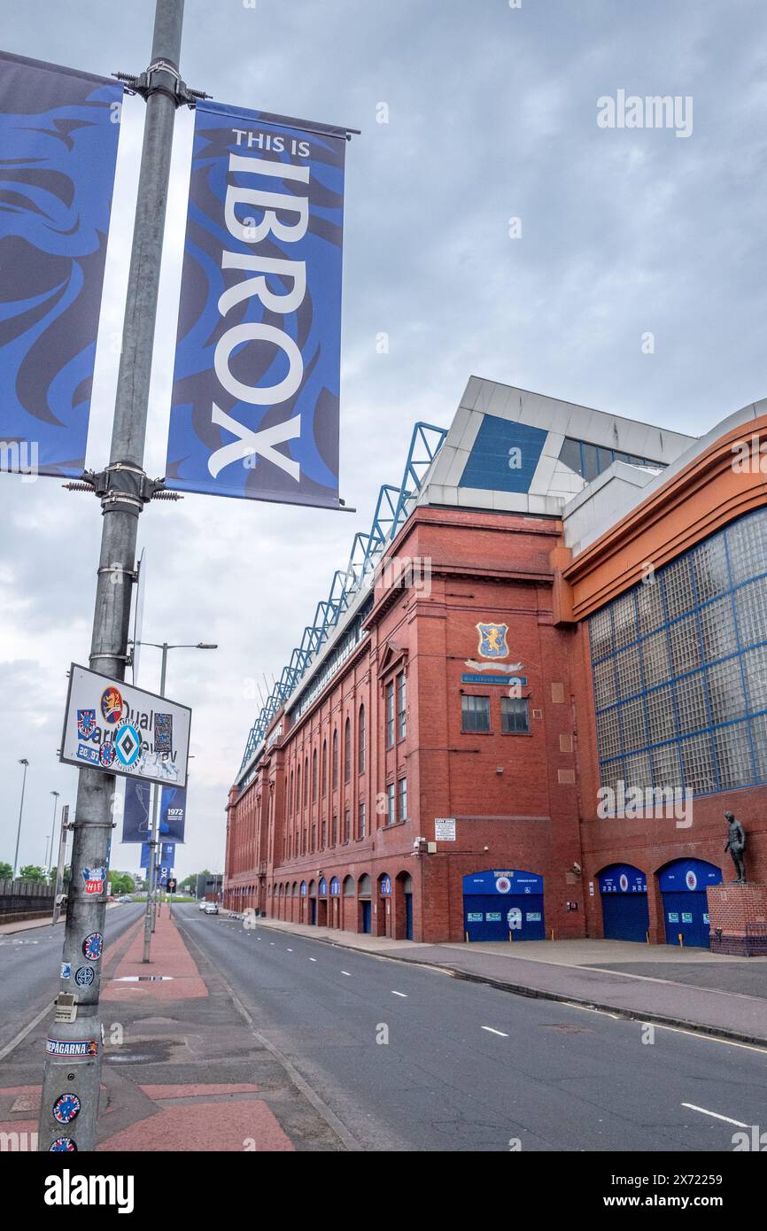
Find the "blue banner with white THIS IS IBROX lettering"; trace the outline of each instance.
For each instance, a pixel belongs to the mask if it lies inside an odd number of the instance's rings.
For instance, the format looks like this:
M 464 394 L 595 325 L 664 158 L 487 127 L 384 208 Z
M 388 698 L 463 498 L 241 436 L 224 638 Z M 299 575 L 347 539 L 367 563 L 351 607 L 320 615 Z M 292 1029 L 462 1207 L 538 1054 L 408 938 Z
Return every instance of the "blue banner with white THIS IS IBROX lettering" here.
M 345 150 L 197 103 L 167 487 L 339 507 Z

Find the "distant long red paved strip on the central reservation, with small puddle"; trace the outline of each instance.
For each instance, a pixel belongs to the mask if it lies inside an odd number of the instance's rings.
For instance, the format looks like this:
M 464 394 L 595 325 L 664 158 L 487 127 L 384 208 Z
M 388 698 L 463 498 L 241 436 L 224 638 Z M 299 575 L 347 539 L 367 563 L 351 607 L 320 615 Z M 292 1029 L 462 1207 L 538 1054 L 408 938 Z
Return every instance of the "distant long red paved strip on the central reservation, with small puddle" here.
M 143 960 L 144 929 L 135 933 L 127 953 L 119 961 L 108 984 L 101 986 L 102 1001 L 145 1001 L 145 1000 L 197 1000 L 208 995 L 208 988 L 181 933 L 167 915 L 158 918 L 158 926 L 151 937 L 151 961 Z M 147 975 L 166 975 L 170 979 L 151 982 Z M 121 979 L 144 976 L 137 982 L 116 982 Z

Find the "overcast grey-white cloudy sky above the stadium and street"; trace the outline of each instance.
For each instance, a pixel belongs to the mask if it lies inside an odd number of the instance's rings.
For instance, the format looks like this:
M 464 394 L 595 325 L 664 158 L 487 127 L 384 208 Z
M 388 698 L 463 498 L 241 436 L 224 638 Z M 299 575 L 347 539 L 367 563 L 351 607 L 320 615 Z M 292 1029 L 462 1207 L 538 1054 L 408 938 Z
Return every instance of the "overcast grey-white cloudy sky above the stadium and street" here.
M 0 0 L 5 50 L 110 74 L 148 63 L 154 0 Z M 193 707 L 181 876 L 220 868 L 257 708 L 396 481 L 416 420 L 472 373 L 689 433 L 767 394 L 763 0 L 187 0 L 182 75 L 218 101 L 362 129 L 347 149 L 341 495 L 355 515 L 187 496 L 140 519 L 144 636 Z M 692 98 L 692 134 L 597 124 L 597 100 Z M 385 103 L 385 107 L 382 107 Z M 144 105 L 128 100 L 87 464 L 107 459 Z M 385 118 L 388 123 L 379 123 Z M 192 116 L 177 116 L 147 470 L 170 409 Z M 510 219 L 521 236 L 510 236 Z M 518 228 L 517 228 L 518 229 Z M 389 353 L 375 340 L 389 335 Z M 655 352 L 643 351 L 653 332 Z M 0 476 L 0 859 L 42 863 L 65 670 L 86 662 L 100 510 Z M 145 650 L 140 683 L 159 682 Z M 137 848 L 112 865 L 134 870 Z

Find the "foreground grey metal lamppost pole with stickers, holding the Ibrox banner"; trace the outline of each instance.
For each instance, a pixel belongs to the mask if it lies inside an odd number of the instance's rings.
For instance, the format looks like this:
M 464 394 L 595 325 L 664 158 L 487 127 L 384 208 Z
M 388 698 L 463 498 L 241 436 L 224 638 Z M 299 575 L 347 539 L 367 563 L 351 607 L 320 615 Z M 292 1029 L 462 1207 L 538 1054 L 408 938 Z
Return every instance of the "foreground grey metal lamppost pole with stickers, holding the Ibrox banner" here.
M 144 471 L 144 442 L 175 116 L 176 107 L 190 100 L 179 76 L 182 23 L 183 0 L 156 0 L 151 60 L 137 82 L 147 113 L 110 460 L 90 480 L 101 501 L 102 528 L 89 664 L 118 682 L 126 675 L 138 519 L 158 490 Z M 96 1149 L 98 996 L 113 803 L 114 776 L 81 768 L 62 975 L 46 1049 L 39 1151 Z

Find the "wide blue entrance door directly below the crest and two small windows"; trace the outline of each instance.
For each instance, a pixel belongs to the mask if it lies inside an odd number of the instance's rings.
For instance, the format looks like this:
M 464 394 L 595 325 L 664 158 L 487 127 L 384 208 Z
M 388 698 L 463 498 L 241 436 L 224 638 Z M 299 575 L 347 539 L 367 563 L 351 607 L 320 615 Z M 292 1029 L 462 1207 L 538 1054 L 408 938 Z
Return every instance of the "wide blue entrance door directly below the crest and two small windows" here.
M 464 932 L 469 940 L 543 940 L 543 876 L 488 870 L 463 878 Z

